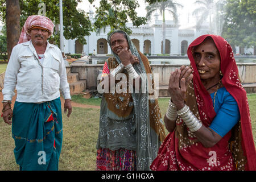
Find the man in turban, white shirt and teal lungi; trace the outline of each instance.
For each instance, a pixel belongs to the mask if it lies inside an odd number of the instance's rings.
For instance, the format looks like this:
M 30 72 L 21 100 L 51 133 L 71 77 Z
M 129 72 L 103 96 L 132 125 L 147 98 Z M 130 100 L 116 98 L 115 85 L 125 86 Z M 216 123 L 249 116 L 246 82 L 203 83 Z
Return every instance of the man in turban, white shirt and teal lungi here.
M 20 170 L 58 169 L 62 145 L 60 90 L 64 111 L 68 109 L 68 117 L 72 112 L 63 56 L 47 41 L 53 27 L 45 16 L 29 16 L 6 69 L 2 117 L 12 124 Z M 17 98 L 12 110 L 15 87 Z

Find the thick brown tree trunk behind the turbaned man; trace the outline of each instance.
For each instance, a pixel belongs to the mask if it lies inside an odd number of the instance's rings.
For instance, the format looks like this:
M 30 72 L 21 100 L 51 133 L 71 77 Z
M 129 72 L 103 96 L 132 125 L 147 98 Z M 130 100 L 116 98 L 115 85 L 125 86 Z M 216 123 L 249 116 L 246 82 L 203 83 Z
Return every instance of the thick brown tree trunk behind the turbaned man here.
M 11 56 L 13 47 L 19 41 L 20 35 L 20 7 L 19 0 L 6 0 L 6 39 L 8 60 Z

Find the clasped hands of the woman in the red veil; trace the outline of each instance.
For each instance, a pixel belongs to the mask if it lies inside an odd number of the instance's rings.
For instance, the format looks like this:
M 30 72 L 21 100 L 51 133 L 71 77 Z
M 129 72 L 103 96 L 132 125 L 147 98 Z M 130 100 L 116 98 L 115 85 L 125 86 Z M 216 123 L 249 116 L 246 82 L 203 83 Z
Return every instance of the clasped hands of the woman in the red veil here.
M 168 92 L 170 93 L 172 102 L 176 105 L 177 110 L 184 107 L 186 100 L 186 92 L 189 82 L 192 80 L 192 69 L 182 65 L 180 69 L 171 72 L 169 79 Z

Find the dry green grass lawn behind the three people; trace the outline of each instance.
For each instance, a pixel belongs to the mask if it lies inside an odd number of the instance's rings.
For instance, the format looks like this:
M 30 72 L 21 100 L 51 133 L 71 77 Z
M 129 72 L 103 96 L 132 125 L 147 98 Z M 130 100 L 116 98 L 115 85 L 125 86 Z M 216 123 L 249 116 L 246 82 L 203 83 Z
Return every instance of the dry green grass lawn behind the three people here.
M 75 101 L 76 96 L 72 97 Z M 256 94 L 248 94 L 256 144 Z M 99 105 L 100 99 L 77 98 L 83 104 Z M 168 98 L 159 98 L 162 117 L 166 113 Z M 82 109 L 73 107 L 71 117 L 63 113 L 63 147 L 59 160 L 59 170 L 94 170 L 96 165 L 96 142 L 98 138 L 98 121 L 100 109 Z M 14 139 L 11 126 L 0 118 L 0 171 L 19 170 L 13 150 Z

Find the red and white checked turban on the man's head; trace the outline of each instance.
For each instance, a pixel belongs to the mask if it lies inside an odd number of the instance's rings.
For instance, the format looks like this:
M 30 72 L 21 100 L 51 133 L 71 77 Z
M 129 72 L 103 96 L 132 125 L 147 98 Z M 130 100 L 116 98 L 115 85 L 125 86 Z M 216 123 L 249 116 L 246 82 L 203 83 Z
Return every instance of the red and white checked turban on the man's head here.
M 49 36 L 51 36 L 53 34 L 54 24 L 52 23 L 52 20 L 47 18 L 46 16 L 28 16 L 24 26 L 22 27 L 22 32 L 20 33 L 18 44 L 28 42 L 31 39 L 29 31 L 33 27 L 42 27 L 42 29 L 48 30 Z

